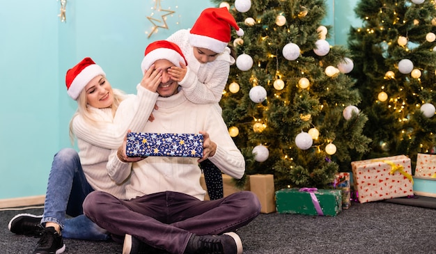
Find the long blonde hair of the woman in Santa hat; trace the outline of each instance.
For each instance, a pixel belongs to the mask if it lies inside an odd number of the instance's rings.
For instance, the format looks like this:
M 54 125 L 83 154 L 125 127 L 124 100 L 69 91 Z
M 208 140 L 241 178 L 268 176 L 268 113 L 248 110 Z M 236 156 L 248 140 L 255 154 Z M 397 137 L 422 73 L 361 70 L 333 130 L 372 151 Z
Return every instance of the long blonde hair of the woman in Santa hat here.
M 112 116 L 115 116 L 118 106 L 127 97 L 127 95 L 122 90 L 116 88 L 112 88 L 112 92 L 114 93 L 114 103 L 112 103 L 111 109 L 112 109 Z M 74 145 L 75 143 L 75 134 L 74 132 L 72 132 L 72 121 L 76 116 L 79 115 L 82 118 L 84 118 L 84 120 L 88 122 L 89 125 L 93 125 L 94 127 L 99 127 L 102 124 L 100 119 L 97 120 L 94 118 L 93 113 L 91 113 L 88 107 L 85 89 L 81 90 L 79 97 L 77 97 L 77 111 L 75 112 L 75 114 L 72 116 L 70 120 L 70 141 L 72 145 Z

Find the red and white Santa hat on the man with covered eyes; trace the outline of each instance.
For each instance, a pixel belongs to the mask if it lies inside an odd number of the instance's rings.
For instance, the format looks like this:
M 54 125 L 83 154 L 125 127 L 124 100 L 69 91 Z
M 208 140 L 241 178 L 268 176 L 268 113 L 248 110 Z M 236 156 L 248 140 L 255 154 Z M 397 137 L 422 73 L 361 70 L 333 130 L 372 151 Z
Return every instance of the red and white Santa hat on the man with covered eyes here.
M 141 70 L 144 74 L 148 68 L 157 60 L 168 60 L 177 67 L 180 67 L 180 62 L 188 65 L 185 56 L 183 56 L 182 50 L 178 45 L 168 40 L 157 40 L 151 42 L 144 53 L 144 57 L 141 63 Z

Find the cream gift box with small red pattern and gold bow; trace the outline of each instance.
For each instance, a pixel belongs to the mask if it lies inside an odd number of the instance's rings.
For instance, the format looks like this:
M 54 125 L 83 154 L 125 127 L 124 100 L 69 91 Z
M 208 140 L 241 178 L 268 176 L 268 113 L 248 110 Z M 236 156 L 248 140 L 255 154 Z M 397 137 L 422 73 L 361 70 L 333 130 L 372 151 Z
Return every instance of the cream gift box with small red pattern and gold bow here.
M 405 155 L 352 161 L 359 203 L 413 195 L 410 159 Z

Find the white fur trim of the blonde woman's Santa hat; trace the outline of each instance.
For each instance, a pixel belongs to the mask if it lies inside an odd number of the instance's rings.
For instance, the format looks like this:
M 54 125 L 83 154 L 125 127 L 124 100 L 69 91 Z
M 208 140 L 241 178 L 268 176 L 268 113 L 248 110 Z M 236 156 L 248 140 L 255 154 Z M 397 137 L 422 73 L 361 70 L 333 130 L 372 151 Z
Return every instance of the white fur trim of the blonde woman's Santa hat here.
M 81 90 L 85 88 L 85 86 L 91 81 L 93 78 L 98 75 L 102 75 L 106 77 L 103 69 L 99 65 L 88 65 L 84 70 L 82 70 L 75 79 L 72 81 L 70 88 L 68 88 L 68 95 L 72 97 L 72 99 L 77 100 L 79 97 Z

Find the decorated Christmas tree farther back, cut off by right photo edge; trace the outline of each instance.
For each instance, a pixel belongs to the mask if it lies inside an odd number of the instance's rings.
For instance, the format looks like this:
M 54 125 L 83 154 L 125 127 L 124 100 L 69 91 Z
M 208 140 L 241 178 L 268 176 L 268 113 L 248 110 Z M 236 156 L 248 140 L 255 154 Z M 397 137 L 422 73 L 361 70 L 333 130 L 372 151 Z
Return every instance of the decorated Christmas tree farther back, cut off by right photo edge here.
M 436 2 L 362 0 L 351 28 L 350 72 L 365 100 L 368 159 L 435 152 Z M 412 166 L 414 168 L 414 166 Z

